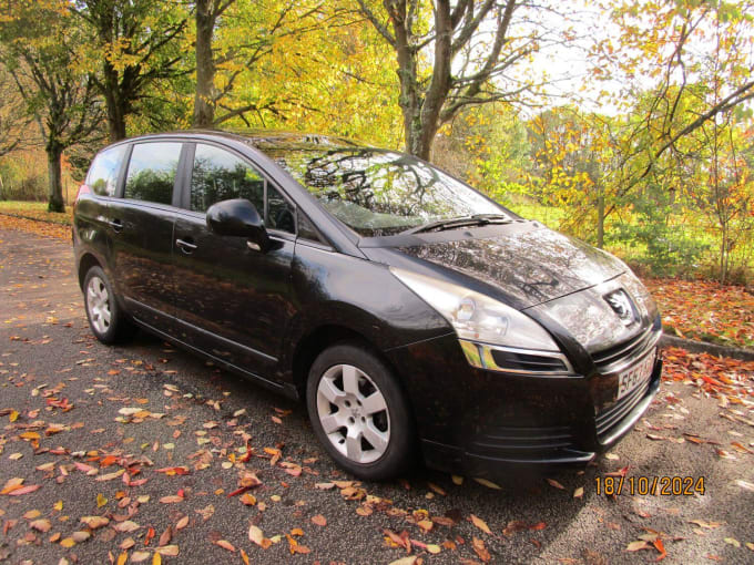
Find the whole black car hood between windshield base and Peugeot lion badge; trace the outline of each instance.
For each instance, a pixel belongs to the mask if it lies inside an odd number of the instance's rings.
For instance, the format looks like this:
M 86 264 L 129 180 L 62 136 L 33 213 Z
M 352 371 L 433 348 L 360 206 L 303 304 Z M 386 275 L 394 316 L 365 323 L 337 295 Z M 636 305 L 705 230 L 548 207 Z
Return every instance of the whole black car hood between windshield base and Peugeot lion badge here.
M 412 240 L 396 237 L 394 243 L 364 250 L 373 260 L 420 267 L 456 284 L 472 281 L 470 288 L 482 282 L 495 290 L 488 294 L 502 295 L 519 309 L 578 292 L 626 270 L 612 255 L 537 222 L 440 232 Z M 398 254 L 414 261 L 409 265 Z M 469 280 L 457 280 L 457 274 Z

